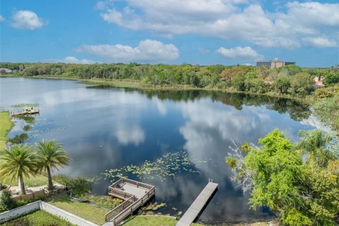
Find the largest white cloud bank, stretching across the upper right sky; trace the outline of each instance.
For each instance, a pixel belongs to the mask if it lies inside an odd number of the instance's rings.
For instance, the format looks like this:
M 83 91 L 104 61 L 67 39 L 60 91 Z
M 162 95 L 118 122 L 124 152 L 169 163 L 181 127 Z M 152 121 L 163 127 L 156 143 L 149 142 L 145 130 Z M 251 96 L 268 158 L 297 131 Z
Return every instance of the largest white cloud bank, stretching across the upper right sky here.
M 267 11 L 258 2 L 126 0 L 127 6 L 122 9 L 110 1 L 101 1 L 99 8 L 107 23 L 131 30 L 151 30 L 163 37 L 198 34 L 289 49 L 323 47 L 317 42 L 307 42 L 307 38 L 339 40 L 338 3 L 293 1 Z

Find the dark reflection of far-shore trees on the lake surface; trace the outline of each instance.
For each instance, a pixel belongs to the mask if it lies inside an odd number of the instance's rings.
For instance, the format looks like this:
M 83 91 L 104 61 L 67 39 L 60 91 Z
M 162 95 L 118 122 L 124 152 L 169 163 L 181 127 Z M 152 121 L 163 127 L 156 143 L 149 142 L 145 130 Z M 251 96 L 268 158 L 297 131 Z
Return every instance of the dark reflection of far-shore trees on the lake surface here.
M 301 121 L 307 119 L 311 115 L 311 111 L 307 105 L 303 105 L 295 100 L 283 99 L 278 97 L 268 97 L 262 95 L 246 95 L 238 93 L 222 93 L 217 91 L 202 90 L 152 90 L 141 91 L 148 98 L 156 96 L 160 100 L 188 101 L 199 100 L 204 97 L 210 97 L 213 101 L 220 101 L 225 105 L 231 105 L 238 110 L 246 106 L 264 105 L 268 109 L 272 109 L 280 114 L 288 113 L 290 118 Z

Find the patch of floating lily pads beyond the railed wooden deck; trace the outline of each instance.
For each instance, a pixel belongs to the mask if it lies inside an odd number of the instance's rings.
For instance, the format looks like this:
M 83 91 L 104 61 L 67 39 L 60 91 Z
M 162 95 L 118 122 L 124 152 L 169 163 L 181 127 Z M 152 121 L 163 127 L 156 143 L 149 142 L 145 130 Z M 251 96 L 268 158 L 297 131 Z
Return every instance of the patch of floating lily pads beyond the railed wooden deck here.
M 194 166 L 203 162 L 206 160 L 194 161 L 185 151 L 178 151 L 162 155 L 154 162 L 146 160 L 142 165 L 127 165 L 119 169 L 109 169 L 102 175 L 105 179 L 112 181 L 119 177 L 127 177 L 129 174 L 133 174 L 138 179 L 160 179 L 163 181 L 167 177 L 176 177 L 181 172 L 199 173 L 194 169 Z

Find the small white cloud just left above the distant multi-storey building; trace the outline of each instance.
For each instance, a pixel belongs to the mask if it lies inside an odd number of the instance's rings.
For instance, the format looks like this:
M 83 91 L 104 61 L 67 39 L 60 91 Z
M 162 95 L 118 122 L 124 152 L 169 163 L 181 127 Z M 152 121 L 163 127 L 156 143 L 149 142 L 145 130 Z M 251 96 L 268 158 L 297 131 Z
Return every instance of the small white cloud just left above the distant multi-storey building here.
M 227 57 L 230 59 L 246 59 L 246 60 L 262 60 L 263 56 L 258 54 L 251 47 L 234 47 L 230 49 L 225 49 L 221 47 L 216 50 L 218 54 L 221 54 L 223 57 Z

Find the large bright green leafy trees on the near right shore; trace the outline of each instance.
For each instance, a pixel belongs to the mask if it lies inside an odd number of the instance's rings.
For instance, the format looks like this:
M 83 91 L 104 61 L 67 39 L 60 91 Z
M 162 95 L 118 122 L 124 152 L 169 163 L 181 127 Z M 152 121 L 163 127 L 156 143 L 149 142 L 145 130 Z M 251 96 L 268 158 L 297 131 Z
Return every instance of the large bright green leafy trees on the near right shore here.
M 251 193 L 251 208 L 268 206 L 283 225 L 335 225 L 339 217 L 339 159 L 330 136 L 302 131 L 292 143 L 277 129 L 232 148 L 226 162 L 233 179 Z

